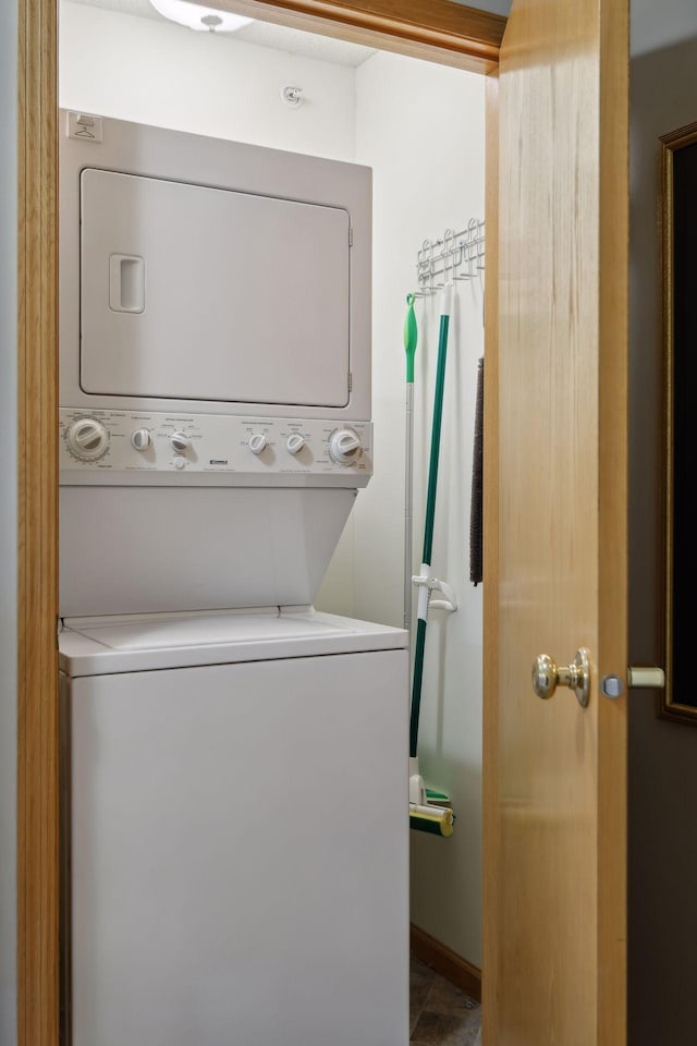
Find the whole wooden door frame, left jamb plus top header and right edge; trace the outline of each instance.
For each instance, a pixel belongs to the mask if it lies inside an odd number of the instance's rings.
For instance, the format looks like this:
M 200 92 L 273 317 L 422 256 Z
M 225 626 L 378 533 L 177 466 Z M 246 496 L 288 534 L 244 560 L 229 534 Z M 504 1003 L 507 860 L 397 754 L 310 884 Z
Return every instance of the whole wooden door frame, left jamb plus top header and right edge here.
M 58 4 L 57 0 L 16 2 L 17 1043 L 58 1046 Z M 506 21 L 449 0 L 217 0 L 217 5 L 484 74 L 497 69 Z M 489 141 L 493 111 L 488 108 Z M 494 206 L 494 195 L 489 193 L 488 266 L 496 257 Z M 494 329 L 491 303 L 493 294 L 488 294 L 488 338 Z M 488 341 L 488 373 L 496 366 L 494 349 L 493 340 Z M 488 448 L 496 446 L 494 405 L 493 398 L 488 398 Z M 487 617 L 485 609 L 485 617 L 491 623 L 496 560 L 487 549 L 497 546 L 496 498 L 491 496 L 496 488 L 493 455 L 487 457 L 485 604 L 490 613 Z M 488 692 L 490 688 L 489 681 Z

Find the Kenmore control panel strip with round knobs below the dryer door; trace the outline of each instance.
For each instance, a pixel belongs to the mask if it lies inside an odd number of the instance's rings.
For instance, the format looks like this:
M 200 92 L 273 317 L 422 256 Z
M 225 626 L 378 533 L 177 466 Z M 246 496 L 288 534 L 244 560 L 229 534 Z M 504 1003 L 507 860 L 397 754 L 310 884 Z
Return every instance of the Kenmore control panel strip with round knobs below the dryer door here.
M 62 484 L 366 486 L 370 422 L 60 411 Z

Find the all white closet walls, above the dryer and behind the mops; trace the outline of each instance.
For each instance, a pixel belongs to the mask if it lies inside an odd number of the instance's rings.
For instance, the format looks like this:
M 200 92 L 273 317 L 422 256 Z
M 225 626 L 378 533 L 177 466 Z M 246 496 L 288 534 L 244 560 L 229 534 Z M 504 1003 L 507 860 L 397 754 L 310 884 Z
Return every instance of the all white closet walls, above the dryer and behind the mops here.
M 288 82 L 305 87 L 301 110 L 279 99 Z M 484 80 L 396 54 L 346 69 L 62 0 L 60 101 L 374 167 L 376 475 L 357 499 L 317 606 L 400 625 L 405 295 L 423 240 L 484 215 Z M 427 776 L 450 789 L 458 823 L 451 840 L 412 834 L 413 919 L 474 963 L 481 939 L 481 589 L 468 584 L 466 554 L 481 307 L 480 282 L 458 284 L 433 564 L 454 584 L 461 609 L 448 620 L 435 613 L 429 625 L 421 727 Z M 419 302 L 417 315 L 415 569 L 438 301 Z

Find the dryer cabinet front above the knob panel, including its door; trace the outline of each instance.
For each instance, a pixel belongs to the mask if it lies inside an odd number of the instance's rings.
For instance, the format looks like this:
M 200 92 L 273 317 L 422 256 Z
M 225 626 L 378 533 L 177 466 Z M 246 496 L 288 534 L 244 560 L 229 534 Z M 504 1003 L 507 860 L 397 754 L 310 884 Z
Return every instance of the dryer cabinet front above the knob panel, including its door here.
M 95 119 L 61 139 L 61 405 L 368 421 L 370 169 Z

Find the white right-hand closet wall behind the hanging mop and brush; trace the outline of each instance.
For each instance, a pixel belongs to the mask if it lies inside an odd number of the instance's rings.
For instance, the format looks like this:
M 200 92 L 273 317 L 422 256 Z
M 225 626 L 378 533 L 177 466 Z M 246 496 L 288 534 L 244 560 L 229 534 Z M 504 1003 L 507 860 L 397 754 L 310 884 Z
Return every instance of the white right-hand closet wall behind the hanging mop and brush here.
M 426 238 L 484 217 L 484 78 L 379 53 L 356 76 L 356 159 L 374 167 L 376 473 L 353 519 L 358 617 L 402 623 L 405 296 Z M 417 303 L 414 570 L 421 557 L 439 299 Z M 470 962 L 481 948 L 481 588 L 469 585 L 468 534 L 482 287 L 458 283 L 447 370 L 433 571 L 460 609 L 428 627 L 419 751 L 452 794 L 450 840 L 412 832 L 412 920 Z

